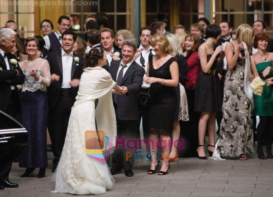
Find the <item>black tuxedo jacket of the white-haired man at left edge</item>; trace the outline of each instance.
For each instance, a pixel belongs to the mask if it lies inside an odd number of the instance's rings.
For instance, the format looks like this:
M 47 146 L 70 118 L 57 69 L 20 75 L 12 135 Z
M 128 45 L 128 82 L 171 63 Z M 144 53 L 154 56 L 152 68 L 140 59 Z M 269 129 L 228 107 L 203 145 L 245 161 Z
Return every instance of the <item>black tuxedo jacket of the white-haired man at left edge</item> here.
M 0 54 L 0 67 L 2 70 L 0 70 L 0 110 L 6 111 L 8 102 L 11 97 L 11 89 L 10 86 L 13 85 L 15 87 L 15 93 L 13 94 L 13 99 L 16 101 L 16 105 L 20 106 L 20 99 L 19 99 L 19 92 L 16 88 L 16 85 L 23 84 L 25 81 L 25 75 L 23 74 L 23 71 L 21 70 L 20 66 L 12 65 L 10 63 L 11 59 L 16 60 L 16 56 L 12 55 L 11 53 L 7 54 L 7 59 L 9 63 L 9 70 L 6 69 L 6 64 L 3 56 Z M 16 76 L 18 70 L 19 75 Z M 18 109 L 19 111 L 20 109 Z

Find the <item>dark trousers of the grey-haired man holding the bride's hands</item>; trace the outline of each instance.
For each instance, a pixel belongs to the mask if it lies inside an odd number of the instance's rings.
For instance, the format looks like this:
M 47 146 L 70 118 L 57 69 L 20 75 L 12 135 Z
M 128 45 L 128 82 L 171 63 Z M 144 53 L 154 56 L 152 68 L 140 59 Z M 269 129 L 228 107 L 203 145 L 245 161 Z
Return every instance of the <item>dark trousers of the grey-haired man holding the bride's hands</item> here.
M 135 139 L 138 131 L 138 120 L 118 120 L 117 119 L 117 138 L 118 141 L 123 141 L 124 148 L 122 148 L 121 144 L 117 144 L 116 141 L 116 149 L 112 155 L 112 163 L 113 168 L 124 170 L 132 169 L 135 161 L 135 152 L 136 149 L 130 149 L 126 146 L 126 142 L 128 139 Z M 124 136 L 122 140 L 122 136 Z M 130 144 L 133 146 L 133 144 Z M 137 144 L 136 144 L 137 145 Z M 127 154 L 131 154 L 131 157 L 126 158 Z

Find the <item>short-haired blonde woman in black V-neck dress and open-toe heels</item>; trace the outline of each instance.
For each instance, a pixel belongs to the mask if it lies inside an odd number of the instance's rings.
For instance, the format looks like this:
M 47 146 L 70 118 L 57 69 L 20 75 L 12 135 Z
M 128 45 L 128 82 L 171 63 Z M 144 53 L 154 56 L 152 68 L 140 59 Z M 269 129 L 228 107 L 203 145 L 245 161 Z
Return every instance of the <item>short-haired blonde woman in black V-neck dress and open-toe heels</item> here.
M 149 138 L 154 144 L 150 143 L 152 162 L 148 174 L 154 174 L 158 167 L 158 154 L 156 154 L 158 135 L 163 140 L 163 156 L 169 156 L 170 153 L 170 133 L 173 129 L 177 103 L 175 87 L 178 85 L 179 71 L 177 62 L 169 54 L 169 41 L 165 35 L 153 35 L 150 43 L 156 55 L 149 57 L 147 77 L 144 81 L 151 84 L 148 128 Z M 164 159 L 158 175 L 167 174 L 168 168 L 168 159 Z

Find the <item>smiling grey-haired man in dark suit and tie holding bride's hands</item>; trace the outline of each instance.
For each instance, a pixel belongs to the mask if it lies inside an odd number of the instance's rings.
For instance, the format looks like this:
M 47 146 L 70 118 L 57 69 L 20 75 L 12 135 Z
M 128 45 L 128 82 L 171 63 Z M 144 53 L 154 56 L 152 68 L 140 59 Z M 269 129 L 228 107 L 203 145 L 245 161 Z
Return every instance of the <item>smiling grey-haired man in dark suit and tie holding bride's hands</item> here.
M 132 167 L 135 156 L 132 154 L 126 158 L 126 152 L 132 153 L 132 150 L 126 147 L 126 141 L 135 139 L 138 132 L 138 96 L 145 70 L 133 59 L 137 49 L 134 40 L 124 40 L 121 48 L 122 60 L 112 62 L 110 66 L 112 78 L 122 88 L 113 95 L 119 144 L 116 141 L 118 148 L 113 153 L 111 173 L 113 175 L 120 173 L 123 167 L 125 175 L 130 177 L 134 175 Z M 122 140 L 122 136 L 125 136 L 125 141 Z M 125 149 L 121 147 L 121 141 L 125 144 Z

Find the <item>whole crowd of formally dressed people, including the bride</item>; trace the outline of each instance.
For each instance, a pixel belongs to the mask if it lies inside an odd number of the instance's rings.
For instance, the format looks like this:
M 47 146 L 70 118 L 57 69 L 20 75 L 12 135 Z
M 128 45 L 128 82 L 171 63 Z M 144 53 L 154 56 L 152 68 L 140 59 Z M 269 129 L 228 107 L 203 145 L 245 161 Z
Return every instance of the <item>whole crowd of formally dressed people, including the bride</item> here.
M 177 25 L 170 33 L 165 16 L 157 14 L 141 28 L 137 45 L 133 33 L 115 33 L 100 17 L 86 17 L 85 32 L 78 35 L 68 16 L 59 17 L 56 32 L 43 20 L 43 37 L 19 39 L 14 21 L 0 29 L 0 110 L 28 131 L 18 159 L 25 168 L 21 177 L 31 177 L 36 168 L 37 177 L 45 177 L 47 130 L 54 192 L 60 193 L 103 194 L 122 169 L 134 176 L 135 157 L 127 152 L 137 150 L 120 142 L 140 139 L 140 127 L 150 141 L 148 174 L 165 175 L 179 160 L 183 132 L 191 133 L 185 140 L 189 157 L 206 160 L 207 151 L 212 159 L 246 160 L 257 134 L 258 158 L 273 159 L 273 42 L 262 21 L 233 30 L 228 21 L 210 25 L 199 18 L 189 32 Z M 255 95 L 251 82 L 259 77 L 265 85 Z M 147 106 L 140 106 L 143 93 Z M 86 156 L 85 131 L 105 132 L 113 145 L 111 162 Z M 99 134 L 96 142 L 100 146 Z M 8 179 L 12 159 L 0 160 L 0 189 L 18 187 Z

